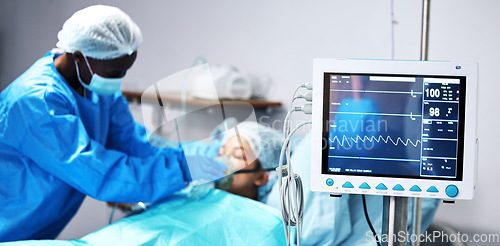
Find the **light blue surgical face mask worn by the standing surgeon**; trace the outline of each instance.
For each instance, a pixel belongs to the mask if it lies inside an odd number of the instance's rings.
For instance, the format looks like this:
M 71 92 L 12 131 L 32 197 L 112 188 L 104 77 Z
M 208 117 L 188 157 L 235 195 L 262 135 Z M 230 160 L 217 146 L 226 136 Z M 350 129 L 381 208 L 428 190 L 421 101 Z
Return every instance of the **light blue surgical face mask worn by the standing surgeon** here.
M 82 84 L 83 87 L 86 89 L 96 93 L 97 95 L 100 96 L 107 96 L 107 95 L 112 95 L 115 92 L 120 90 L 120 86 L 122 84 L 123 78 L 104 78 L 99 76 L 98 74 L 94 73 L 92 71 L 92 68 L 90 68 L 90 64 L 87 61 L 87 57 L 83 56 L 85 59 L 85 62 L 87 63 L 87 67 L 90 70 L 90 73 L 92 74 L 92 78 L 90 79 L 90 84 L 86 85 L 83 83 L 83 81 L 80 78 L 80 71 L 78 69 L 78 65 L 76 64 L 75 60 L 75 66 L 76 66 L 76 74 L 78 77 L 78 81 L 80 81 L 80 84 Z

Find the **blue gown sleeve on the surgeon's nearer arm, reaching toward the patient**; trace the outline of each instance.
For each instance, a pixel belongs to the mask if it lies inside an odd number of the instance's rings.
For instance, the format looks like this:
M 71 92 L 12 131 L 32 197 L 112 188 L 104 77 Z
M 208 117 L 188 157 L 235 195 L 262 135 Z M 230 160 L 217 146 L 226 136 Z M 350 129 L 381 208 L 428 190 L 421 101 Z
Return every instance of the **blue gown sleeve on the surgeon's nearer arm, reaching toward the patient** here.
M 180 149 L 155 152 L 142 146 L 135 155 L 107 149 L 89 138 L 69 105 L 59 93 L 41 91 L 14 106 L 19 129 L 24 129 L 19 132 L 18 148 L 43 170 L 103 201 L 154 202 L 184 188 L 181 166 L 185 161 Z M 134 130 L 129 135 L 140 134 L 136 125 L 127 127 Z M 124 134 L 120 137 L 130 140 Z

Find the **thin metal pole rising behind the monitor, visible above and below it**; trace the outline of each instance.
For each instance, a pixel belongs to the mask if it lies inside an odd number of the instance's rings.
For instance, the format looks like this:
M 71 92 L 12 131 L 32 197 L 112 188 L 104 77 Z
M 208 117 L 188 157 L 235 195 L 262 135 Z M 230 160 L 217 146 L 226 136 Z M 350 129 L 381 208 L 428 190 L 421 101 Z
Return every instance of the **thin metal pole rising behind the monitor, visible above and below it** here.
M 420 48 L 420 60 L 429 60 L 429 23 L 430 23 L 431 1 L 423 0 L 422 4 L 422 40 Z M 422 198 L 413 201 L 413 235 L 420 235 L 422 224 Z M 419 237 L 417 237 L 419 238 Z M 414 246 L 420 246 L 420 241 L 413 242 Z

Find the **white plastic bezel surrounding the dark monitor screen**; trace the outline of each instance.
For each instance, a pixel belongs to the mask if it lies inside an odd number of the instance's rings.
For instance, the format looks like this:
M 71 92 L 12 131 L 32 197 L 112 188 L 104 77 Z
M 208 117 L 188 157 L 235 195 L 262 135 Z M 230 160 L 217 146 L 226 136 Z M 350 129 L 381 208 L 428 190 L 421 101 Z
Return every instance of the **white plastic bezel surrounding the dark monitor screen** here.
M 323 147 L 323 97 L 324 73 L 350 74 L 427 74 L 434 76 L 464 76 L 466 77 L 465 123 L 463 124 L 463 164 L 462 180 L 428 179 L 423 177 L 383 177 L 360 176 L 345 174 L 322 173 Z M 313 114 L 311 133 L 311 190 L 330 193 L 394 195 L 407 197 L 432 197 L 443 199 L 472 199 L 477 175 L 477 73 L 476 63 L 441 62 L 441 61 L 401 61 L 401 60 L 364 60 L 364 59 L 315 59 L 313 63 Z M 462 106 L 462 105 L 460 105 Z M 327 179 L 333 179 L 334 185 L 326 185 Z M 344 189 L 345 181 L 354 184 L 353 189 Z M 378 191 L 376 189 L 359 189 L 357 185 L 367 182 L 371 186 L 385 183 L 388 186 L 402 184 L 404 186 L 419 185 L 420 187 L 435 186 L 439 193 Z M 456 197 L 448 197 L 444 190 L 449 185 L 455 185 L 460 190 Z

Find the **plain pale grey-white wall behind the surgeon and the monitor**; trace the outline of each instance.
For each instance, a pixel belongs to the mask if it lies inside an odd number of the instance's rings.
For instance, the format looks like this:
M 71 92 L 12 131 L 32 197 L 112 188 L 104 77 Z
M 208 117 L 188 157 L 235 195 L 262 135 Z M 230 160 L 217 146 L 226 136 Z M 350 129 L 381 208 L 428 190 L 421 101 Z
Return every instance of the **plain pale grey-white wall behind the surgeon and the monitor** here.
M 100 2 L 122 8 L 143 31 L 128 88 L 144 89 L 204 56 L 209 63 L 271 75 L 275 84 L 269 99 L 286 104 L 296 85 L 310 81 L 313 58 L 391 58 L 390 0 Z M 92 3 L 97 1 L 0 0 L 0 89 L 55 45 L 56 33 L 71 13 Z M 495 0 L 431 3 L 429 58 L 480 66 L 477 193 L 472 201 L 441 206 L 437 219 L 480 232 L 500 232 L 500 196 L 494 189 L 500 185 L 494 101 L 500 90 L 495 76 L 500 66 L 499 9 Z M 396 59 L 419 59 L 420 14 L 421 1 L 394 0 Z M 94 220 L 89 216 L 79 218 Z M 81 224 L 72 222 L 61 238 L 94 229 L 78 228 Z

